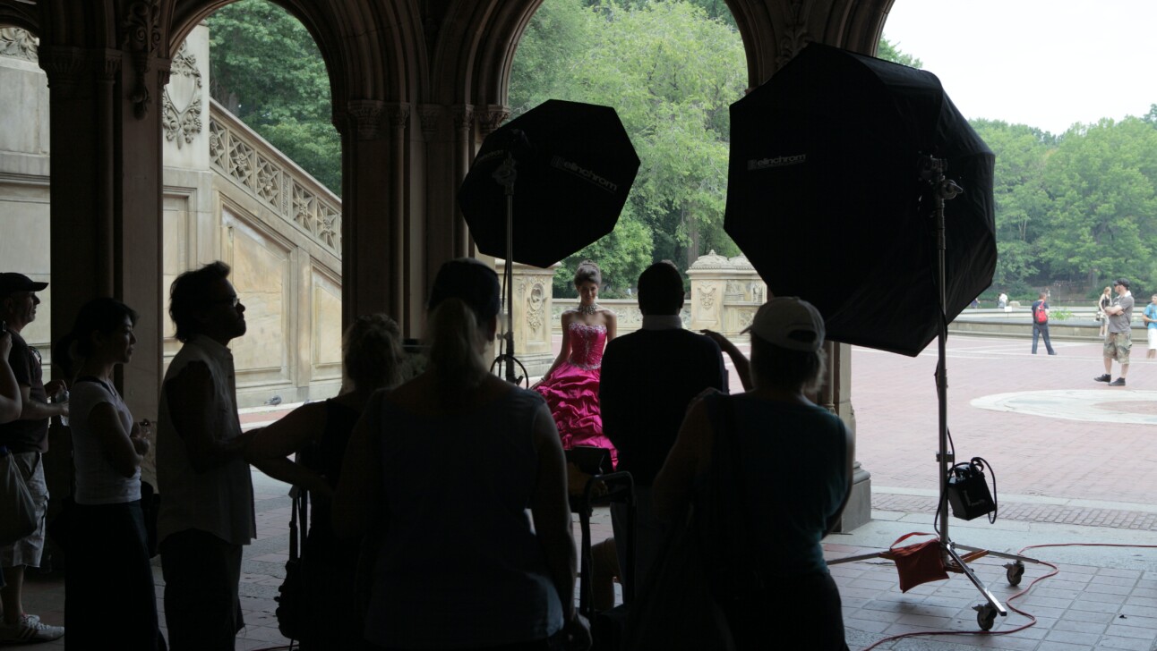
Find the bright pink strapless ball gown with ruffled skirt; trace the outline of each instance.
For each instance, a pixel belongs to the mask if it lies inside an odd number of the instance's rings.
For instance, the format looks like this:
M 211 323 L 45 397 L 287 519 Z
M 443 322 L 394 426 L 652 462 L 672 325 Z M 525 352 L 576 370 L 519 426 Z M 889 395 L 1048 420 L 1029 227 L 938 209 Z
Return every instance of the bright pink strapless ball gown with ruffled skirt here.
M 570 355 L 535 391 L 546 399 L 554 423 L 562 437 L 562 447 L 592 445 L 611 451 L 619 463 L 611 439 L 603 436 L 603 417 L 598 409 L 598 376 L 606 345 L 606 326 L 572 323 Z

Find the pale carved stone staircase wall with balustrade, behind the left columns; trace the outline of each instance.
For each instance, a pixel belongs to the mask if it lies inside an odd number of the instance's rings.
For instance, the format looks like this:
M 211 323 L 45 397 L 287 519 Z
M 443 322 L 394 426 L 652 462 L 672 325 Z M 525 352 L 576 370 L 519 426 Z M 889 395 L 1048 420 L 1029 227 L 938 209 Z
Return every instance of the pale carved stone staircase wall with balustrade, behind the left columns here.
M 0 267 L 51 282 L 49 90 L 36 54 L 28 32 L 0 29 Z M 228 262 L 249 323 L 231 345 L 241 406 L 326 398 L 341 382 L 341 200 L 211 101 L 208 57 L 199 27 L 161 97 L 163 287 Z M 51 284 L 40 298 L 24 334 L 51 361 Z M 172 323 L 142 318 L 164 324 L 168 363 L 180 347 Z

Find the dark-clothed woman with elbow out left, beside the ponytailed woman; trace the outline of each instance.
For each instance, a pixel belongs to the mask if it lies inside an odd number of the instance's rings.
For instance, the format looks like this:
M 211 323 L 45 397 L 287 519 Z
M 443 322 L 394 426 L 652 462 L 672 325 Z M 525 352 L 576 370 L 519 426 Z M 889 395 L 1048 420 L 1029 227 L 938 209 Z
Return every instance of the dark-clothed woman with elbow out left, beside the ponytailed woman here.
M 310 528 L 302 554 L 307 617 L 299 629 L 303 651 L 361 644 L 363 613 L 354 595 L 358 546 L 333 535 L 331 501 L 349 435 L 370 395 L 398 384 L 400 336 L 398 324 L 385 315 L 358 317 L 341 338 L 341 393 L 303 405 L 257 431 L 245 451 L 270 476 L 310 494 Z M 286 458 L 294 452 L 296 461 Z

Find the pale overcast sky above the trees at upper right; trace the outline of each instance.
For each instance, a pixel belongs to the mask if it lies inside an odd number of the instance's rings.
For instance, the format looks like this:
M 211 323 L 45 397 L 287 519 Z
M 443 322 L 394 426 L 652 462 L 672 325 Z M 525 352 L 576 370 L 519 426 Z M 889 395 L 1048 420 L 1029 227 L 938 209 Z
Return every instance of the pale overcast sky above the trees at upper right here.
M 1157 0 L 896 0 L 884 36 L 968 119 L 1054 134 L 1157 104 Z

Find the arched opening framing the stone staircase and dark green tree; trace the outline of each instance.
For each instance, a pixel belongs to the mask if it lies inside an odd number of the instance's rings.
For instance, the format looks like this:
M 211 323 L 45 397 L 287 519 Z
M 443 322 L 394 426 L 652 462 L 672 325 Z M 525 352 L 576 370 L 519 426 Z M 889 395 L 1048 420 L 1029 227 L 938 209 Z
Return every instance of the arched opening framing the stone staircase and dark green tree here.
M 172 57 L 162 97 L 163 286 L 221 259 L 248 308 L 238 405 L 341 382 L 341 140 L 302 23 L 264 0 L 218 9 Z M 165 317 L 164 352 L 179 348 Z

